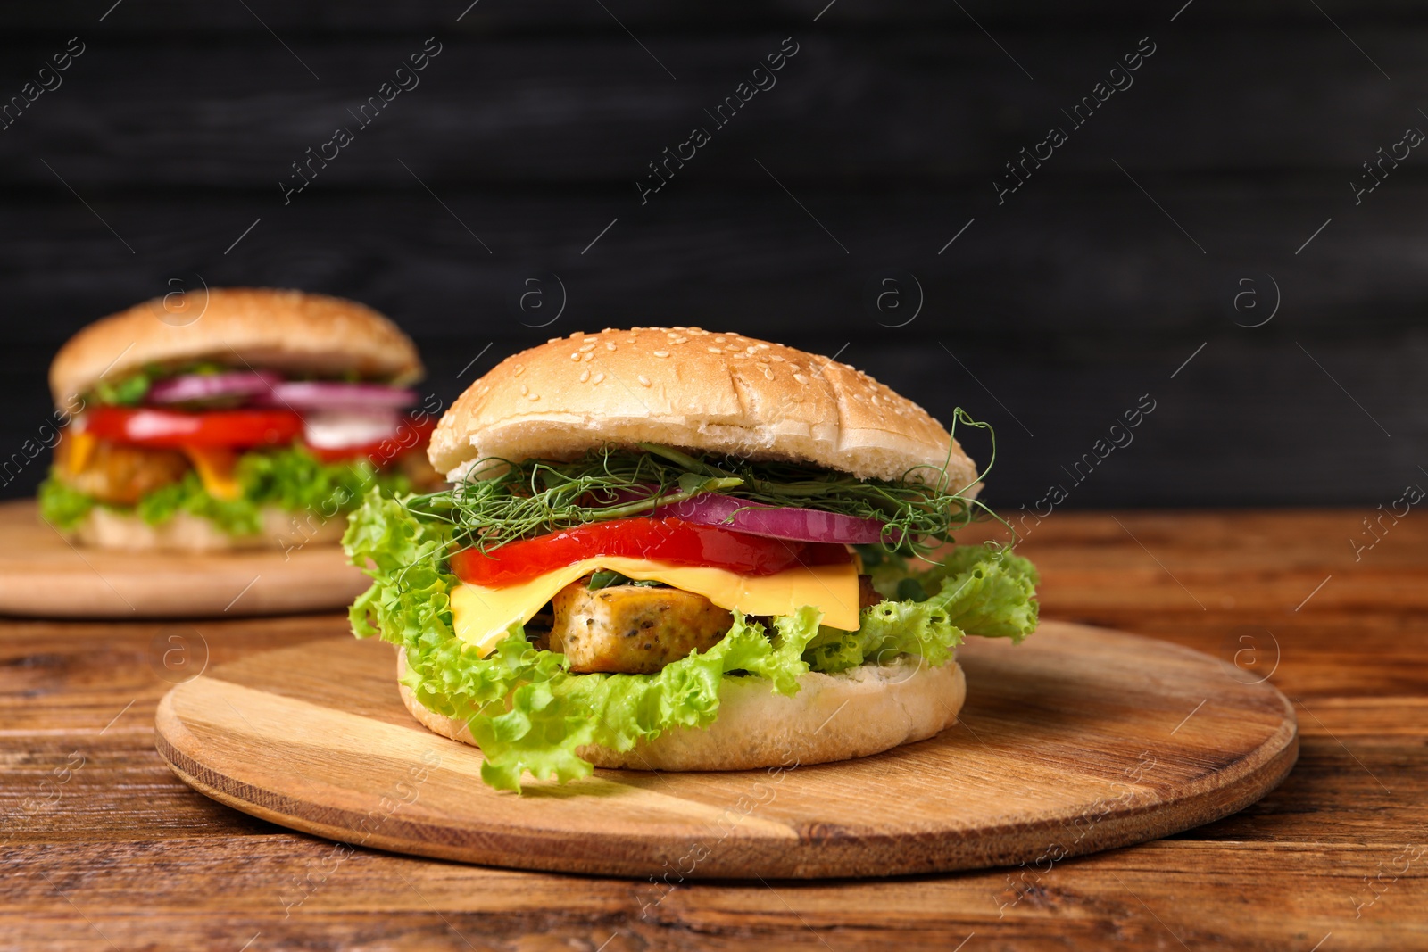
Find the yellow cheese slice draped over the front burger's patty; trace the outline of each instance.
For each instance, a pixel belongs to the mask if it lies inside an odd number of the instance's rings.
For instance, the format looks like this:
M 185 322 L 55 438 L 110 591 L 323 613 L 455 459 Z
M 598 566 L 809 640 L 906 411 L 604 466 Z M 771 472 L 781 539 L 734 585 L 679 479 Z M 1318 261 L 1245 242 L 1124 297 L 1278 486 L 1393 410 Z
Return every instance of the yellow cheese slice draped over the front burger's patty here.
M 668 565 L 648 558 L 600 555 L 507 588 L 463 582 L 451 591 L 451 619 L 457 637 L 488 655 L 506 639 L 506 629 L 524 625 L 555 592 L 597 568 L 637 579 L 653 579 L 704 595 L 720 608 L 745 615 L 791 615 L 804 605 L 823 612 L 823 624 L 858 629 L 858 567 L 797 565 L 774 575 L 740 575 L 723 568 Z

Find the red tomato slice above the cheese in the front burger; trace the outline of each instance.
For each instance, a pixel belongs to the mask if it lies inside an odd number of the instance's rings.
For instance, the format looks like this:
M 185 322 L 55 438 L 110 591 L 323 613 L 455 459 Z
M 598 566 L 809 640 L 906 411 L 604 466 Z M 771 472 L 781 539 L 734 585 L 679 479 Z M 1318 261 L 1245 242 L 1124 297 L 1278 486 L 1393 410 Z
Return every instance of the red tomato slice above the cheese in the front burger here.
M 503 588 L 595 555 L 724 568 L 740 575 L 773 575 L 800 564 L 830 565 L 853 558 L 834 542 L 793 542 L 677 518 L 635 517 L 507 542 L 490 552 L 461 550 L 451 555 L 451 571 L 464 582 Z

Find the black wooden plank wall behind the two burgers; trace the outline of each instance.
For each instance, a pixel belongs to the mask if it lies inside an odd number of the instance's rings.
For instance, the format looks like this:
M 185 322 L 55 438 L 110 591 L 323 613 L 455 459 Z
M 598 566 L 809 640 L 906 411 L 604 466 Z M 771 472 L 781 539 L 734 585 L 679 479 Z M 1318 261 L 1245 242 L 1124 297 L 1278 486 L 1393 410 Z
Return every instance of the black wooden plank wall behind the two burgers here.
M 111 3 L 0 6 L 0 98 L 84 44 L 0 131 L 6 457 L 70 334 L 203 281 L 371 304 L 443 398 L 607 325 L 841 350 L 995 424 L 1010 510 L 1054 482 L 1068 507 L 1367 508 L 1428 484 L 1428 150 L 1361 204 L 1349 184 L 1428 130 L 1421 4 Z M 420 86 L 284 206 L 290 163 L 431 36 Z M 777 86 L 714 130 L 784 37 Z M 1134 86 L 1072 130 L 1141 37 Z M 641 207 L 694 126 L 713 141 Z M 1051 126 L 1070 141 L 998 206 Z M 536 328 L 550 275 L 565 305 Z M 1077 484 L 1062 467 L 1142 394 L 1134 442 Z

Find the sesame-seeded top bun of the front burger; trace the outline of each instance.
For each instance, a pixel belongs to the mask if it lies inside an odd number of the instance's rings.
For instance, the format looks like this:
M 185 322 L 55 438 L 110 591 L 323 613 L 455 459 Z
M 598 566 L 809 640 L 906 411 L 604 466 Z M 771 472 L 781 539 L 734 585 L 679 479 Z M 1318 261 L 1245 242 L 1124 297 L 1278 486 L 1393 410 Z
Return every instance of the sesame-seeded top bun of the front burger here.
M 478 460 L 567 460 L 607 442 L 977 482 L 942 424 L 863 371 L 697 327 L 575 333 L 514 354 L 451 405 L 428 455 L 458 480 Z

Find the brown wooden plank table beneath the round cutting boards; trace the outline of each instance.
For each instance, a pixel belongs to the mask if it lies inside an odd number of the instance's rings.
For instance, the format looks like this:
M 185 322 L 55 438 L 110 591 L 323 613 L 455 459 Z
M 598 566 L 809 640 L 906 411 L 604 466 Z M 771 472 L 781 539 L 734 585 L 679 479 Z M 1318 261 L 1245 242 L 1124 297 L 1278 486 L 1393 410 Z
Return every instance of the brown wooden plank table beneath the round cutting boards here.
M 1165 841 L 892 881 L 663 895 L 334 858 L 180 784 L 153 749 L 153 715 L 163 651 L 220 664 L 340 632 L 340 617 L 10 621 L 0 948 L 1428 949 L 1428 522 L 1385 518 L 1355 561 L 1369 514 L 1055 514 L 1032 527 L 1022 551 L 1042 569 L 1045 617 L 1240 652 L 1237 677 L 1272 669 L 1299 716 L 1298 766 L 1255 806 Z M 895 808 L 897 791 L 870 804 Z

